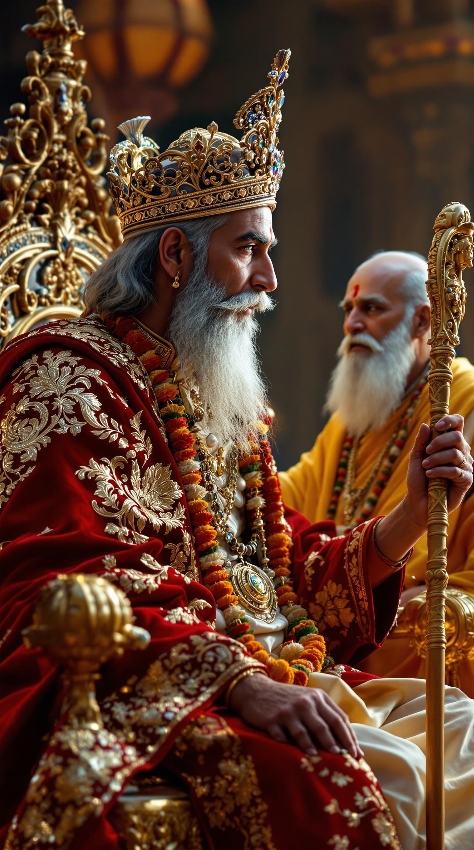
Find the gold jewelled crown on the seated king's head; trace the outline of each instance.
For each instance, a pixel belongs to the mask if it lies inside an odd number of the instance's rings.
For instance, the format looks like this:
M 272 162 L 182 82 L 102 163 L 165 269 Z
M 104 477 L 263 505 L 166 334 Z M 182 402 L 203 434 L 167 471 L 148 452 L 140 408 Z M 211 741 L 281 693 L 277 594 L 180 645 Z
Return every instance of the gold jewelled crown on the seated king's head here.
M 281 84 L 288 77 L 290 50 L 279 50 L 270 83 L 253 94 L 234 118 L 242 139 L 220 133 L 215 122 L 206 130 L 183 133 L 163 153 L 143 135 L 149 116 L 123 122 L 126 140 L 110 153 L 110 195 L 124 238 L 185 218 L 215 215 L 248 207 L 274 209 L 285 167 L 277 137 L 284 101 Z

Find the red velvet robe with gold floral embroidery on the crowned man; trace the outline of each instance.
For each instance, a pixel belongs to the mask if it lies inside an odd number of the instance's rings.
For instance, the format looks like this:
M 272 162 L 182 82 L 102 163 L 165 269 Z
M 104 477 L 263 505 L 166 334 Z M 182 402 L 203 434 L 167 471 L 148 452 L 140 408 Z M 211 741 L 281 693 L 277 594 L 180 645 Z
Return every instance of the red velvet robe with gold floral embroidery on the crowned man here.
M 201 583 L 178 468 L 150 380 L 131 349 L 98 319 L 42 326 L 1 354 L 0 393 L 3 837 L 18 809 L 6 846 L 116 847 L 107 813 L 133 774 L 166 758 L 194 791 L 199 772 L 218 774 L 222 735 L 200 767 L 191 759 L 194 776 L 189 763 L 184 767 L 183 747 L 180 757 L 173 747 L 178 736 L 192 740 L 203 723 L 225 724 L 229 753 L 244 760 L 249 782 L 261 786 L 254 818 L 266 836 L 245 845 L 235 831 L 248 809 L 238 794 L 229 829 L 215 824 L 195 794 L 213 846 L 336 847 L 337 836 L 347 836 L 344 847 L 379 847 L 374 819 L 385 819 L 395 836 L 370 768 L 320 751 L 316 769 L 296 747 L 277 744 L 219 709 L 233 678 L 259 665 L 240 643 L 213 630 L 214 601 Z M 319 621 L 336 662 L 357 664 L 392 626 L 403 570 L 372 592 L 369 564 L 378 560 L 373 522 L 332 539 L 331 523 L 310 526 L 295 512 L 288 519 L 302 604 Z M 59 572 L 116 581 L 133 604 L 136 625 L 151 635 L 148 649 L 105 666 L 99 684 L 105 728 L 82 737 L 57 725 L 58 671 L 40 650 L 25 649 L 21 638 L 42 586 Z M 369 678 L 357 672 L 344 677 L 351 684 Z M 52 732 L 45 749 L 44 736 Z M 350 782 L 338 785 L 334 771 Z M 368 786 L 370 804 L 357 815 L 355 795 Z M 384 846 L 398 846 L 396 836 L 391 841 Z

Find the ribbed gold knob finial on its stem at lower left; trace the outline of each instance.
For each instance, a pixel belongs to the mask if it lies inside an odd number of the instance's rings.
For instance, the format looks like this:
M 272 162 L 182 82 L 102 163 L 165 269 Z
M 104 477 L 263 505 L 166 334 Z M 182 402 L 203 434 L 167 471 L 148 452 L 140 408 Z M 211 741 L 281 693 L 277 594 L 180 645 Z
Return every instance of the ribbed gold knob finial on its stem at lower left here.
M 94 685 L 99 667 L 124 649 L 145 649 L 150 634 L 133 626 L 132 606 L 119 587 L 80 574 L 58 575 L 43 587 L 23 639 L 65 666 L 67 723 L 102 728 Z

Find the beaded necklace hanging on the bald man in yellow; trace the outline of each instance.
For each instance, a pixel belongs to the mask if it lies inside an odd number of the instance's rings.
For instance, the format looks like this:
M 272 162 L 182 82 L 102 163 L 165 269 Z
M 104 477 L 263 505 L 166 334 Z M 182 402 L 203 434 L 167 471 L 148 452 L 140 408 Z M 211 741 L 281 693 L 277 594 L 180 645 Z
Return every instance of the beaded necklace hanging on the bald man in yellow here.
M 420 399 L 423 389 L 426 387 L 429 366 L 423 372 L 419 382 L 412 394 L 409 396 L 409 406 L 406 412 L 398 420 L 392 437 L 388 440 L 380 455 L 370 470 L 369 478 L 362 487 L 356 490 L 355 465 L 357 462 L 358 447 L 361 438 L 354 438 L 352 434 L 346 433 L 342 443 L 341 456 L 337 465 L 336 481 L 330 497 L 327 518 L 335 519 L 337 505 L 342 492 L 344 503 L 344 523 L 347 528 L 355 528 L 363 523 L 374 512 L 377 501 L 387 486 L 387 481 L 392 475 L 395 462 L 408 439 L 409 424 L 415 414 L 416 405 Z M 375 482 L 375 483 L 374 483 Z M 364 499 L 362 508 L 354 519 L 358 505 Z

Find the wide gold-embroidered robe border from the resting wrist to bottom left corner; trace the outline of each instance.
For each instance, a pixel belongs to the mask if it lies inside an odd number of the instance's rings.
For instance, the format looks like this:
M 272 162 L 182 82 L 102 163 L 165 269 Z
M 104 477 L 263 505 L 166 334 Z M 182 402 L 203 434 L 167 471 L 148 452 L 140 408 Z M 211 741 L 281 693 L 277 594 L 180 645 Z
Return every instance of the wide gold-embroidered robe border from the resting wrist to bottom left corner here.
M 67 847 L 74 831 L 110 804 L 172 729 L 247 666 L 261 665 L 239 643 L 214 632 L 192 635 L 104 700 L 104 729 L 57 729 L 12 822 L 8 850 Z

